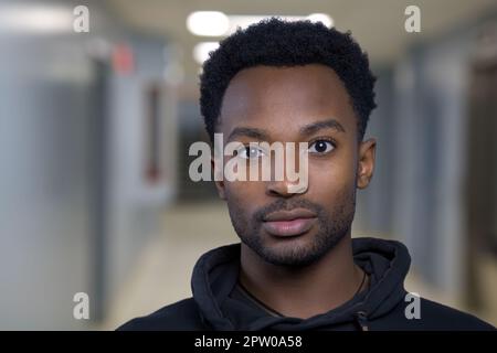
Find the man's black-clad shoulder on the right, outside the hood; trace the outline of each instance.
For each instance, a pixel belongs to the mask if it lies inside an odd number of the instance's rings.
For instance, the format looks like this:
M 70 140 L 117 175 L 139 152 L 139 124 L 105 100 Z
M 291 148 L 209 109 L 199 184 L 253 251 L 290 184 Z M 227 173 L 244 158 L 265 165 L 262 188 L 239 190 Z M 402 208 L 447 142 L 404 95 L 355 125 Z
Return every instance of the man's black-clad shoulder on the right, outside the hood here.
M 412 310 L 417 314 L 409 315 Z M 442 303 L 421 298 L 419 308 L 401 301 L 388 315 L 378 320 L 379 330 L 488 331 L 495 328 L 472 315 Z

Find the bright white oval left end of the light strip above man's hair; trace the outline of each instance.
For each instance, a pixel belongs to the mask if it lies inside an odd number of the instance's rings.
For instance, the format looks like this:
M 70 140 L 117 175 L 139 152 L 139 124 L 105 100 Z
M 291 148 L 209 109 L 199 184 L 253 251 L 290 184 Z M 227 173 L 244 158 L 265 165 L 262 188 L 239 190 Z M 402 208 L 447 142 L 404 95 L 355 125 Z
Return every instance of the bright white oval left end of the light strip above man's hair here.
M 197 11 L 187 19 L 188 30 L 197 35 L 224 35 L 230 25 L 228 17 L 219 11 Z

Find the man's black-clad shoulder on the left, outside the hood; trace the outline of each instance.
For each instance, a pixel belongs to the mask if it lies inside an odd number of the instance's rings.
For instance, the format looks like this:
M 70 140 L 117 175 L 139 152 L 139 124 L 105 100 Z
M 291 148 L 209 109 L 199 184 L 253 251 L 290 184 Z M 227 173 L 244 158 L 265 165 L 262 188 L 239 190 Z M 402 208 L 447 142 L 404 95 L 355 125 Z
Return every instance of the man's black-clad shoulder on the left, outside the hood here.
M 133 319 L 117 331 L 204 330 L 193 298 L 166 306 L 149 315 Z

